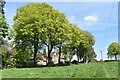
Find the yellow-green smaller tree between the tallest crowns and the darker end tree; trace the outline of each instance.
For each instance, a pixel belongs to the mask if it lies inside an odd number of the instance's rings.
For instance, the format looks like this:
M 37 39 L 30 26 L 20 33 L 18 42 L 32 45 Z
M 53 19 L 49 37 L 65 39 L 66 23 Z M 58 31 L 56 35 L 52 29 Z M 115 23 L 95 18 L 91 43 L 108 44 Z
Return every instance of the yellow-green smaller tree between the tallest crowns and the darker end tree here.
M 71 24 L 70 31 L 70 38 L 62 48 L 63 53 L 69 56 L 69 62 L 71 62 L 73 55 L 77 53 L 79 44 L 83 42 L 85 38 L 83 31 L 79 29 L 77 25 Z

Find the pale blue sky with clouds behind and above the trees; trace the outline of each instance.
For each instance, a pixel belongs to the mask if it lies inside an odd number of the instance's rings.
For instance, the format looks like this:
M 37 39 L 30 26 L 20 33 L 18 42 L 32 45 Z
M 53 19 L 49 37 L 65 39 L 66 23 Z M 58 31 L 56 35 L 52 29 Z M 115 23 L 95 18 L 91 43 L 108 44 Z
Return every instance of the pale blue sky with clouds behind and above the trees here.
M 16 9 L 27 2 L 7 2 L 5 16 L 12 27 Z M 47 2 L 64 13 L 67 19 L 82 30 L 91 32 L 95 38 L 93 46 L 97 60 L 107 59 L 107 48 L 111 42 L 118 42 L 118 3 L 117 2 Z

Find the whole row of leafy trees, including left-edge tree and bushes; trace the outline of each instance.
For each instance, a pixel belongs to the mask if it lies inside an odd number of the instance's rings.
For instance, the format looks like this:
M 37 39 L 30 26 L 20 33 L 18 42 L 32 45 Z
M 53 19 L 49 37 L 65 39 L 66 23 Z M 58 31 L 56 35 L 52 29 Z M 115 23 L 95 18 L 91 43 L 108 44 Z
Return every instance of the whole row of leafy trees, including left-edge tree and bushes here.
M 1 4 L 3 9 L 5 2 L 2 1 Z M 53 49 L 58 50 L 59 63 L 61 53 L 68 55 L 70 62 L 75 54 L 78 61 L 83 59 L 83 62 L 96 57 L 92 47 L 95 44 L 93 35 L 71 24 L 63 13 L 46 3 L 28 3 L 17 9 L 13 28 L 9 33 L 9 37 L 13 40 L 12 49 L 4 42 L 6 36 L 8 37 L 8 25 L 2 10 L 0 44 L 4 44 L 1 47 L 3 66 L 32 58 L 36 62 L 37 54 L 45 49 L 47 49 L 48 65 L 52 63 Z

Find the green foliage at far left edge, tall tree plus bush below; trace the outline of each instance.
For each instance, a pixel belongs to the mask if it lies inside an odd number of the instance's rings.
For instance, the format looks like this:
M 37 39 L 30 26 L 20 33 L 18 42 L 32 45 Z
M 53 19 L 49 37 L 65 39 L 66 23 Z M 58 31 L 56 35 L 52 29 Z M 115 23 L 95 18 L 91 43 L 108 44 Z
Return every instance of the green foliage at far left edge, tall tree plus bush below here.
M 0 0 L 0 56 L 2 56 L 3 67 L 12 67 L 14 66 L 13 58 L 10 58 L 12 52 L 9 50 L 8 43 L 4 40 L 8 36 L 8 24 L 3 10 L 4 5 L 5 1 Z

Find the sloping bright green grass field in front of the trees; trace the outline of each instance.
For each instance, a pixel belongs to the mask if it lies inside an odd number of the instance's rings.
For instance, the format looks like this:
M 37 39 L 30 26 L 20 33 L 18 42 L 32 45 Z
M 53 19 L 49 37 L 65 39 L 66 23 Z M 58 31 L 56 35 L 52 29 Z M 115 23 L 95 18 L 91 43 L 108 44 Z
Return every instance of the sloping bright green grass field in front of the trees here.
M 3 78 L 117 78 L 118 62 L 78 64 L 62 67 L 12 68 Z

